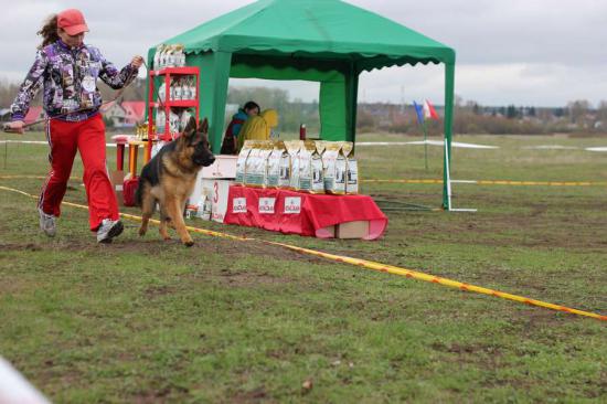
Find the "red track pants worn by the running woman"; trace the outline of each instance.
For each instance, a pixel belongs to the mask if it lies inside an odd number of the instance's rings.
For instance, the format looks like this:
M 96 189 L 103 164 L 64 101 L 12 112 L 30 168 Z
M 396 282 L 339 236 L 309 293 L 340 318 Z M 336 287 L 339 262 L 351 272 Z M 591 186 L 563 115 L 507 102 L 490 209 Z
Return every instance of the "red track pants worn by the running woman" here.
M 79 150 L 90 230 L 97 230 L 104 219 L 118 220 L 118 203 L 107 173 L 102 115 L 79 123 L 51 119 L 46 126 L 46 138 L 51 146 L 51 172 L 42 187 L 39 208 L 47 214 L 60 216 L 61 201 L 67 189 L 76 150 Z

